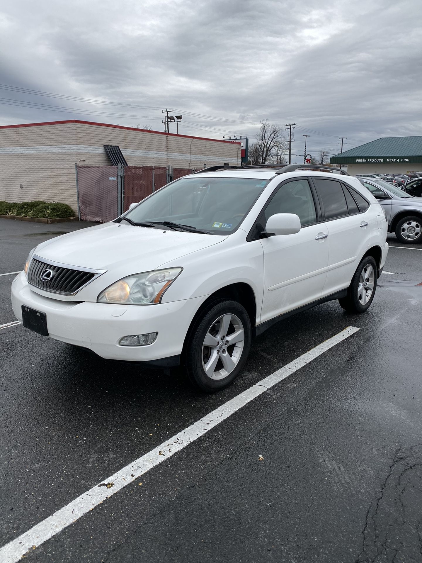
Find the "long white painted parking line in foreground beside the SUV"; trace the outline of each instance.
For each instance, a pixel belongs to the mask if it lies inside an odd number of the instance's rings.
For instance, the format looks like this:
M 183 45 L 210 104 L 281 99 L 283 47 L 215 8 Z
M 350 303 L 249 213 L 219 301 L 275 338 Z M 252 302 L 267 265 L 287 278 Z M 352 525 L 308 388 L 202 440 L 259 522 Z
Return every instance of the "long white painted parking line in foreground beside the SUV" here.
M 255 397 L 258 397 L 264 391 L 276 385 L 276 383 L 289 377 L 292 373 L 297 372 L 298 369 L 303 368 L 305 365 L 309 364 L 309 362 L 315 360 L 315 358 L 318 358 L 318 356 L 324 354 L 324 352 L 336 344 L 339 344 L 358 330 L 359 329 L 356 327 L 347 327 L 342 330 L 342 332 L 336 334 L 336 336 L 329 338 L 315 348 L 312 348 L 312 350 L 302 354 L 302 356 L 291 361 L 283 368 L 277 369 L 277 371 L 270 376 L 261 379 L 259 383 L 255 383 L 255 385 L 249 387 L 249 389 L 246 389 L 246 391 L 243 391 L 239 395 L 236 395 L 233 399 L 219 406 L 216 410 L 206 414 L 205 417 L 201 418 L 199 421 L 194 422 L 194 424 L 188 426 L 185 430 L 176 434 L 176 436 L 166 440 L 163 444 L 151 450 L 151 452 L 129 463 L 129 465 L 123 467 L 123 469 L 114 473 L 114 475 L 107 477 L 107 479 L 104 479 L 104 481 L 92 487 L 92 489 L 82 493 L 78 498 L 74 499 L 74 501 L 66 504 L 66 506 L 60 508 L 60 510 L 57 510 L 52 516 L 42 520 L 39 524 L 36 524 L 33 528 L 20 535 L 19 538 L 3 546 L 0 549 L 0 561 L 2 561 L 2 563 L 16 563 L 29 549 L 31 549 L 32 552 L 32 549 L 40 546 L 42 543 L 46 542 L 47 539 L 52 538 L 53 535 L 58 534 L 61 530 L 66 528 L 66 526 L 77 521 L 98 504 L 110 498 L 111 495 L 117 493 L 117 491 L 131 484 L 165 459 L 185 448 L 200 436 L 206 434 L 211 428 L 219 425 L 223 420 L 255 399 Z

